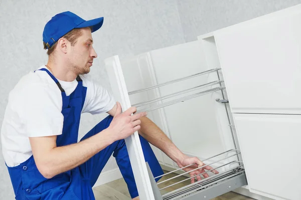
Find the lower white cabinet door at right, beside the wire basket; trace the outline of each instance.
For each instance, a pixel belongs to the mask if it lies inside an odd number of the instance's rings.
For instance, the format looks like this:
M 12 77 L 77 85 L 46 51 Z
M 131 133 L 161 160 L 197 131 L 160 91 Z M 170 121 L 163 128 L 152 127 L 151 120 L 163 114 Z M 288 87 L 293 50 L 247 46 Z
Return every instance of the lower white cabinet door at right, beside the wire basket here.
M 233 116 L 250 191 L 301 199 L 301 115 Z

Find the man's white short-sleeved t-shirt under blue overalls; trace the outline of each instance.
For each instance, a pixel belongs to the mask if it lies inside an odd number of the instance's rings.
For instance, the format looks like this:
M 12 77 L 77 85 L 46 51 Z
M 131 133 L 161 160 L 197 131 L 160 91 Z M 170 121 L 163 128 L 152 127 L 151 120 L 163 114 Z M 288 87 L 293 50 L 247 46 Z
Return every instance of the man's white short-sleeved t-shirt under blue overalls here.
M 89 74 L 80 77 L 87 87 L 82 113 L 98 114 L 113 108 L 115 101 L 105 88 L 95 84 Z M 76 79 L 59 82 L 66 95 L 70 95 L 78 83 Z M 32 155 L 29 137 L 62 134 L 62 104 L 61 90 L 46 71 L 37 70 L 21 78 L 9 94 L 1 130 L 3 155 L 8 166 L 17 166 Z

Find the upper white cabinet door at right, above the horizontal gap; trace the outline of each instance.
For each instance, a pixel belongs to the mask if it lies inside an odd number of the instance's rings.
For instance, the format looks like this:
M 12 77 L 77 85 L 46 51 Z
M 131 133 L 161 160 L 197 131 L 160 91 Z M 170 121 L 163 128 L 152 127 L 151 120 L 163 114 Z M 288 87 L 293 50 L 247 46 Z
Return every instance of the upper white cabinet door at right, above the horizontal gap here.
M 301 5 L 216 31 L 232 112 L 301 114 Z

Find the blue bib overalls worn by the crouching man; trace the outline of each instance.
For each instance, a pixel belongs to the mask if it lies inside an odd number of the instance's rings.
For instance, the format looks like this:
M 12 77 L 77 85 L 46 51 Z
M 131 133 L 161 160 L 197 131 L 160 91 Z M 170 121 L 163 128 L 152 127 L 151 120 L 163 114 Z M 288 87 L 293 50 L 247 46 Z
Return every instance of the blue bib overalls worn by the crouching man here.
M 78 76 L 78 85 L 69 95 L 59 81 L 46 69 L 52 79 L 57 83 L 62 93 L 64 115 L 63 132 L 57 136 L 57 146 L 64 146 L 77 142 L 78 128 L 81 111 L 85 101 L 87 87 L 82 85 Z M 81 140 L 86 139 L 107 128 L 112 121 L 111 115 L 107 116 L 93 127 Z M 55 125 L 55 124 L 54 124 Z M 163 174 L 163 170 L 149 143 L 140 136 L 140 141 L 145 157 L 152 169 L 154 176 Z M 95 184 L 101 170 L 113 153 L 121 174 L 127 184 L 132 198 L 138 196 L 130 160 L 124 139 L 118 140 L 92 156 L 85 163 L 52 178 L 45 178 L 38 170 L 34 157 L 15 167 L 8 167 L 17 200 L 23 199 L 95 199 L 92 186 Z M 159 179 L 156 179 L 158 181 Z

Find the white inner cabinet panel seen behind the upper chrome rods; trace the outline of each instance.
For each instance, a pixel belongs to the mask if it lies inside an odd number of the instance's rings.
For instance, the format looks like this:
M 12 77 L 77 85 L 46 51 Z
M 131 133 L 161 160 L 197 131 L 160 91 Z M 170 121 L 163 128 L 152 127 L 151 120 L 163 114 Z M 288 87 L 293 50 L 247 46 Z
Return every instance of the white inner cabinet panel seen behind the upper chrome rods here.
M 200 41 L 153 50 L 150 51 L 150 55 L 158 83 L 164 83 L 211 69 L 208 68 L 204 49 Z M 164 96 L 215 80 L 218 80 L 216 72 L 162 86 L 159 88 L 159 91 L 160 95 Z M 199 89 L 198 91 L 218 86 L 216 84 Z M 222 98 L 221 91 L 164 108 L 171 138 L 185 153 L 203 159 L 225 151 L 226 147 L 221 129 L 226 129 L 227 131 L 230 129 L 228 122 L 222 124 L 222 127 L 219 123 L 221 118 L 226 117 L 226 112 L 223 105 L 215 101 L 217 96 Z M 169 98 L 163 100 L 163 102 L 178 97 Z M 220 108 L 220 106 L 223 111 L 221 117 L 217 111 L 217 107 Z

